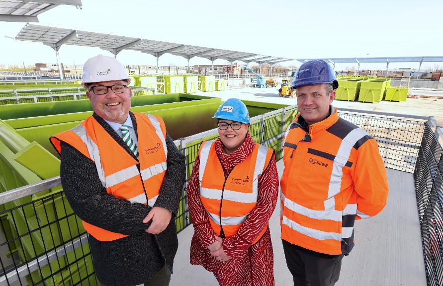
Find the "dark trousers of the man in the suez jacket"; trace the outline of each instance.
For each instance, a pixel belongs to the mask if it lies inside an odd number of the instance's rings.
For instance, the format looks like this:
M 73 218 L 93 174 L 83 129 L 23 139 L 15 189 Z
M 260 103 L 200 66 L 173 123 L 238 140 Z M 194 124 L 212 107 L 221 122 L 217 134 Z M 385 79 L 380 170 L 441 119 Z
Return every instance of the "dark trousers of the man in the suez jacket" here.
M 294 286 L 334 286 L 339 281 L 342 254 L 329 255 L 282 242 Z

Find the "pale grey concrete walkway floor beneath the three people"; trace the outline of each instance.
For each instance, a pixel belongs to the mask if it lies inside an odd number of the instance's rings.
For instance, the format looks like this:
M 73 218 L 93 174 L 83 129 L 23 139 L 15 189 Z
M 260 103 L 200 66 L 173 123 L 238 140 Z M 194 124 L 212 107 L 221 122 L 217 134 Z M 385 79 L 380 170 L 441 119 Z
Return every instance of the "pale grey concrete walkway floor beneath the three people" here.
M 281 176 L 282 161 L 277 162 Z M 355 223 L 355 247 L 343 259 L 337 286 L 425 286 L 426 275 L 412 174 L 387 169 L 388 204 L 376 217 Z M 280 240 L 279 200 L 269 221 L 276 286 L 292 286 Z M 192 225 L 178 234 L 171 286 L 217 286 L 212 273 L 189 264 Z

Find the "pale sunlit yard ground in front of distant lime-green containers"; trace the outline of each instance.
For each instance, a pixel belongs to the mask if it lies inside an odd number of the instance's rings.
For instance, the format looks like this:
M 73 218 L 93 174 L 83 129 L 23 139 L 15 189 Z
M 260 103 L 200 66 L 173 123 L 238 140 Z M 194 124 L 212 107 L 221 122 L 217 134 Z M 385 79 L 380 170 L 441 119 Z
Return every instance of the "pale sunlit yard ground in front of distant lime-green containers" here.
M 236 97 L 243 100 L 269 103 L 281 103 L 288 105 L 297 104 L 297 100 L 295 98 L 278 97 L 278 88 L 280 88 L 280 86 L 268 88 L 235 86 L 229 87 L 229 89 L 223 91 L 198 91 L 197 94 L 221 97 L 223 100 Z M 383 100 L 376 103 L 335 100 L 333 105 L 337 108 L 349 108 L 363 111 L 376 111 L 426 117 L 434 116 L 440 126 L 443 126 L 443 90 L 414 88 L 410 89 L 409 94 L 410 96 L 417 98 L 407 98 L 407 100 L 403 102 Z

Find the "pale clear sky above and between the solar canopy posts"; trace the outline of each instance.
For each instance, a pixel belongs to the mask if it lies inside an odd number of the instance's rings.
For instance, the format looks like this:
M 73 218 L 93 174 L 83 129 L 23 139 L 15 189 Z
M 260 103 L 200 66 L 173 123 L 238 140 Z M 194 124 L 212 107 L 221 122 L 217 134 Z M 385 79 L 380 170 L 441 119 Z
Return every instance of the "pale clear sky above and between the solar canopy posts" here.
M 287 58 L 443 56 L 443 0 L 82 2 L 83 9 L 61 5 L 44 12 L 37 24 Z M 0 22 L 0 64 L 55 63 L 50 47 L 3 37 L 14 37 L 24 24 Z M 111 56 L 98 48 L 64 45 L 60 49 L 65 64 L 83 64 L 97 54 Z M 156 63 L 155 57 L 135 51 L 122 51 L 117 59 L 131 65 Z M 159 64 L 185 66 L 186 60 L 164 55 Z M 193 58 L 190 64 L 210 61 Z M 336 70 L 352 66 L 337 64 Z M 422 69 L 433 66 L 424 63 Z M 360 68 L 385 67 L 362 64 Z M 389 65 L 407 67 L 418 68 L 418 63 Z

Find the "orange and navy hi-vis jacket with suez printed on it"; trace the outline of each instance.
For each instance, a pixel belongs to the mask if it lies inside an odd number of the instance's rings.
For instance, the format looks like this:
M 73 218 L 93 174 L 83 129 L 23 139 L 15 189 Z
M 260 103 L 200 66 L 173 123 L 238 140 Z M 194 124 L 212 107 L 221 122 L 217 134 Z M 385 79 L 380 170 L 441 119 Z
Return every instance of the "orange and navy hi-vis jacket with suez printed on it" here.
M 325 254 L 348 255 L 354 221 L 386 205 L 386 171 L 372 136 L 332 114 L 302 127 L 297 115 L 283 144 L 281 238 Z M 302 119 L 303 120 L 303 119 Z

